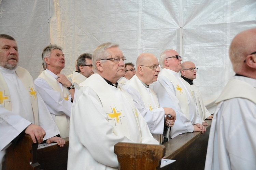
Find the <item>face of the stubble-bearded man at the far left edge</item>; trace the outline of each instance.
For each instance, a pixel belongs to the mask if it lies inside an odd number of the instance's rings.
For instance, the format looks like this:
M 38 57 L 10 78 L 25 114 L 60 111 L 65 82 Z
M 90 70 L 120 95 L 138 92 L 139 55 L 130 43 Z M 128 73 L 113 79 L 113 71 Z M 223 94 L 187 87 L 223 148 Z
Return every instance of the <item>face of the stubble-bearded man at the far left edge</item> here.
M 0 66 L 13 70 L 18 62 L 19 53 L 16 41 L 0 38 Z

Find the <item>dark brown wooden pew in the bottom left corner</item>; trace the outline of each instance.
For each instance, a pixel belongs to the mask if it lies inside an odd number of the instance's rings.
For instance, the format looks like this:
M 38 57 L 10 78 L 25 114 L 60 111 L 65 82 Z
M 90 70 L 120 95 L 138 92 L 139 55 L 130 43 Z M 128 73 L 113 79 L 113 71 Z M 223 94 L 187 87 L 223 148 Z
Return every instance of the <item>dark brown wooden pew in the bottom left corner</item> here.
M 64 138 L 64 147 L 52 145 L 38 149 L 29 135 L 24 134 L 18 143 L 6 149 L 2 170 L 65 170 L 68 164 L 69 138 Z

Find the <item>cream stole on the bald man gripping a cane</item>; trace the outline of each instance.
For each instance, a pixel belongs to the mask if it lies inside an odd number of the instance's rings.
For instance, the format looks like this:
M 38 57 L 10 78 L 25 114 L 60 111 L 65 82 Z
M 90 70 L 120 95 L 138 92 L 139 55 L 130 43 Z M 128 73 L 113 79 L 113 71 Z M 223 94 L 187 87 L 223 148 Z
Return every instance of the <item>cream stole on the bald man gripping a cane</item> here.
M 157 108 L 159 108 L 159 102 L 158 102 L 158 98 L 156 96 L 156 93 L 154 90 L 150 89 L 150 92 L 152 94 L 153 100 L 155 102 L 152 101 L 152 98 L 150 96 L 150 94 L 148 93 L 146 87 L 141 83 L 140 79 L 137 77 L 137 75 L 134 75 L 128 82 L 126 82 L 125 84 L 132 86 L 135 90 L 137 90 L 144 102 L 144 105 L 146 108 L 148 108 L 150 111 L 152 111 L 153 109 L 155 109 L 155 104 L 157 105 Z M 157 141 L 159 141 L 159 143 L 161 143 L 161 135 L 159 134 L 152 134 L 152 136 L 154 137 L 154 139 L 156 139 Z

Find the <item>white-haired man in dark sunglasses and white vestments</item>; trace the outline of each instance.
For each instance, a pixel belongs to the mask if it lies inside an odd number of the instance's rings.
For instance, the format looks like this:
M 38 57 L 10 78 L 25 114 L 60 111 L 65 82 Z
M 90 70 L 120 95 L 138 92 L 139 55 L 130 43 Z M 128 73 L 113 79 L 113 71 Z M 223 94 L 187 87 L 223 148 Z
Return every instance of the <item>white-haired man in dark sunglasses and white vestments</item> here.
M 170 107 L 176 112 L 176 121 L 171 128 L 170 136 L 206 131 L 203 120 L 197 114 L 197 107 L 190 91 L 181 80 L 181 56 L 175 50 L 166 50 L 159 58 L 163 68 L 154 84 L 160 107 Z

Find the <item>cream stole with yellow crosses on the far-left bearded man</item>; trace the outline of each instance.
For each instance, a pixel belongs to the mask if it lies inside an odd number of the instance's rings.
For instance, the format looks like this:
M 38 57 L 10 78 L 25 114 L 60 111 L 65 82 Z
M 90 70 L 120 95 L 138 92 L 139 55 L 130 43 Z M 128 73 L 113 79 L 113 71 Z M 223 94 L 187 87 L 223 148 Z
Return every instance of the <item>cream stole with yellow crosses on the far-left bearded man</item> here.
M 30 101 L 32 105 L 32 110 L 33 110 L 33 116 L 34 116 L 34 124 L 39 125 L 39 116 L 38 116 L 38 101 L 37 101 L 37 92 L 34 87 L 34 82 L 29 74 L 28 70 L 22 68 L 22 67 L 17 67 L 15 69 L 16 74 L 18 75 L 19 79 L 22 81 L 23 85 L 28 91 L 28 95 L 30 96 Z M 8 85 L 5 82 L 5 79 L 0 72 L 0 103 L 2 106 L 9 110 L 12 111 L 12 100 L 9 92 Z

